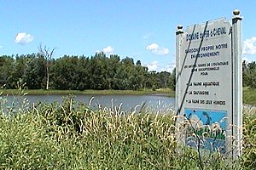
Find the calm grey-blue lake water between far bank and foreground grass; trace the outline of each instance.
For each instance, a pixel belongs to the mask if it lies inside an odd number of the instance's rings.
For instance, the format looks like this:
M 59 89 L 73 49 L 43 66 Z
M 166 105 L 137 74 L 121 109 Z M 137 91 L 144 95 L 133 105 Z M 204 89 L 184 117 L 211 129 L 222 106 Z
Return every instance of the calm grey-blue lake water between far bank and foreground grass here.
M 25 98 L 30 105 L 33 103 L 62 103 L 62 95 L 26 95 Z M 7 99 L 7 105 L 12 105 L 12 102 L 20 102 L 23 98 L 17 96 L 2 96 Z M 174 110 L 175 99 L 163 95 L 76 95 L 75 101 L 82 102 L 85 105 L 90 105 L 91 108 L 108 108 L 112 111 L 120 108 L 120 111 L 140 111 L 144 108 L 146 111 L 156 111 L 167 113 Z M 145 107 L 143 107 L 145 104 Z

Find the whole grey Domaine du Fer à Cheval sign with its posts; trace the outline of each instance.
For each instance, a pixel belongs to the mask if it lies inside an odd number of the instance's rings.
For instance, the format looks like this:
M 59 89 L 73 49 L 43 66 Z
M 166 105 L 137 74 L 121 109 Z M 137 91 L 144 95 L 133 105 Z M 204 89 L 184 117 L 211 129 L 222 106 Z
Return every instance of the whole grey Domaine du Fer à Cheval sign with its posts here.
M 241 17 L 176 31 L 177 127 L 184 144 L 241 156 Z M 183 126 L 181 126 L 181 124 Z M 185 125 L 185 126 L 184 126 Z

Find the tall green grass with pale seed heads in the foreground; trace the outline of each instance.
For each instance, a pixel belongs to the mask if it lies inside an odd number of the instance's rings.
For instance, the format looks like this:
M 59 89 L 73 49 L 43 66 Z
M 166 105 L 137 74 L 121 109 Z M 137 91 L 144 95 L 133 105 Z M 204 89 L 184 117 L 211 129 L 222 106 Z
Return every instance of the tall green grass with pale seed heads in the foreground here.
M 3 103 L 4 104 L 4 101 Z M 230 169 L 214 152 L 199 156 L 177 144 L 172 113 L 91 111 L 73 99 L 0 108 L 3 169 Z M 256 167 L 256 110 L 244 111 L 244 155 L 234 169 Z

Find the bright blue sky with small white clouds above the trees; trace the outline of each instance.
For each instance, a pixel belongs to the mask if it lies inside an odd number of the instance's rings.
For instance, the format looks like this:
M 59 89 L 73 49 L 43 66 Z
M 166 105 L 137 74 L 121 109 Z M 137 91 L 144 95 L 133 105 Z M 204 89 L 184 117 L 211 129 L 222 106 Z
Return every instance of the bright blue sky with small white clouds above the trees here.
M 256 1 L 238 0 L 0 0 L 0 55 L 38 53 L 40 44 L 63 55 L 103 51 L 141 60 L 149 71 L 175 67 L 178 25 L 201 24 L 237 8 L 242 58 L 256 60 Z

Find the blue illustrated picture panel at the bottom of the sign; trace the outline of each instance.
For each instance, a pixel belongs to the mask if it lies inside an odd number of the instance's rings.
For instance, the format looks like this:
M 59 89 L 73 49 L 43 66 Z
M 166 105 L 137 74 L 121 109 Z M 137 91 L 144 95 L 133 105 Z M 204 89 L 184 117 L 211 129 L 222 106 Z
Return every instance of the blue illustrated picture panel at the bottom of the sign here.
M 188 120 L 186 144 L 225 152 L 227 111 L 185 108 L 184 117 Z

